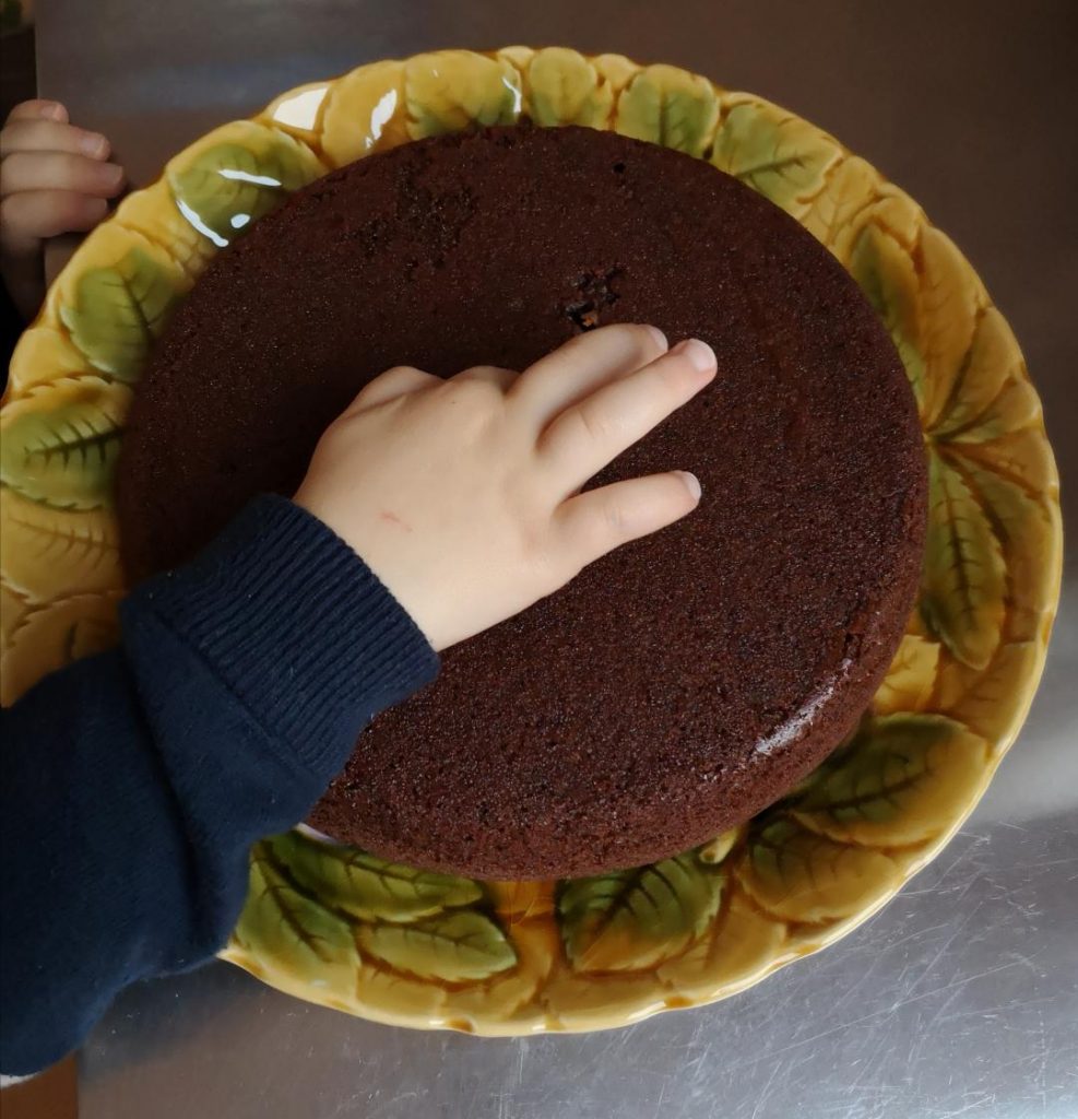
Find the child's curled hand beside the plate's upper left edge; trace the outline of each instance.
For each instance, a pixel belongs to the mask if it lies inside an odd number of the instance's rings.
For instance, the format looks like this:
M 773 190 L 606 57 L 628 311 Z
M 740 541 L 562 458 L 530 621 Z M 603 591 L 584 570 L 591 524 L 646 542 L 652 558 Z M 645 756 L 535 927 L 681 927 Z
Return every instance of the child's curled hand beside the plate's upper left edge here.
M 25 101 L 0 132 L 0 266 L 29 318 L 44 294 L 41 242 L 92 229 L 123 189 L 108 141 L 67 123 L 55 101 Z

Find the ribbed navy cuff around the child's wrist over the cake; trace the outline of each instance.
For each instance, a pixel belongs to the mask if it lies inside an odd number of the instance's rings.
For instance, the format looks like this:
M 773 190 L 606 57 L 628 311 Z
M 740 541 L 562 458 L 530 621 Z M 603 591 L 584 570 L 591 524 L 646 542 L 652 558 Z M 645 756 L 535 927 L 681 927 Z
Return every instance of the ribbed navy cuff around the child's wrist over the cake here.
M 327 780 L 375 715 L 437 675 L 437 655 L 370 568 L 281 497 L 252 502 L 125 608 L 155 613 Z

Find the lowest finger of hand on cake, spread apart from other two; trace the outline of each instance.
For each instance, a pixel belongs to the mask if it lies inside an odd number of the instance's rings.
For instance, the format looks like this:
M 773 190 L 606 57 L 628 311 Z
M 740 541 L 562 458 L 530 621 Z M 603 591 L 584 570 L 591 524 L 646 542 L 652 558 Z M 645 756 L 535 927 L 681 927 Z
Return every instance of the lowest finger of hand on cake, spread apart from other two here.
M 700 482 L 681 470 L 588 490 L 559 506 L 555 547 L 574 567 L 584 567 L 622 544 L 680 520 L 699 500 Z

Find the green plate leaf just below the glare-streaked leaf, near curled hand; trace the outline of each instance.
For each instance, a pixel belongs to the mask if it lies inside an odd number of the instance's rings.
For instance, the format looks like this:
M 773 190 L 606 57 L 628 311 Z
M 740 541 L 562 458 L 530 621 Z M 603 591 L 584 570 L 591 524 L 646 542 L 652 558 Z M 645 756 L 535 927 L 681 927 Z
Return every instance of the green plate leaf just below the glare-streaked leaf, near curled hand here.
M 134 382 L 179 294 L 170 278 L 142 248 L 131 248 L 112 267 L 88 269 L 75 285 L 60 320 L 95 368 Z

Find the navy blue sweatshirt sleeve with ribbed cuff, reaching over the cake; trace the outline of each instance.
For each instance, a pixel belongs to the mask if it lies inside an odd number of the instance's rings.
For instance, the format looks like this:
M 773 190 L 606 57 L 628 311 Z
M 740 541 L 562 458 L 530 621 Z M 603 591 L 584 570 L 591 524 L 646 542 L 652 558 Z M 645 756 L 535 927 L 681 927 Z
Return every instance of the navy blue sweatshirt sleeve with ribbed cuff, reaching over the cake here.
M 303 819 L 437 657 L 356 554 L 261 498 L 139 587 L 120 649 L 2 715 L 0 1071 L 74 1049 L 126 984 L 210 958 L 247 854 Z

